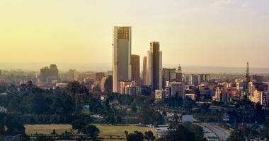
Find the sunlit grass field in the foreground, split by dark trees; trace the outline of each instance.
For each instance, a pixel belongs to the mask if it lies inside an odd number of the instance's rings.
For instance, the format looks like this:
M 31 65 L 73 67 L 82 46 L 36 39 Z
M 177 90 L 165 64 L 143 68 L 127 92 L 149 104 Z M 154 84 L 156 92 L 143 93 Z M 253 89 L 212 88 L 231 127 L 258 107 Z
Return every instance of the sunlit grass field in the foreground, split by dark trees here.
M 100 130 L 100 137 L 103 137 L 105 140 L 111 140 L 110 136 L 114 139 L 114 141 L 125 140 L 125 130 L 129 133 L 134 132 L 135 130 L 140 131 L 142 133 L 147 130 L 151 130 L 154 132 L 154 128 L 147 127 L 139 127 L 136 125 L 101 125 L 95 124 L 97 128 Z M 61 134 L 64 133 L 65 130 L 69 131 L 71 129 L 71 125 L 68 124 L 36 124 L 36 125 L 25 125 L 25 133 L 28 135 L 35 133 L 42 134 L 50 134 L 52 130 L 55 129 L 56 133 Z

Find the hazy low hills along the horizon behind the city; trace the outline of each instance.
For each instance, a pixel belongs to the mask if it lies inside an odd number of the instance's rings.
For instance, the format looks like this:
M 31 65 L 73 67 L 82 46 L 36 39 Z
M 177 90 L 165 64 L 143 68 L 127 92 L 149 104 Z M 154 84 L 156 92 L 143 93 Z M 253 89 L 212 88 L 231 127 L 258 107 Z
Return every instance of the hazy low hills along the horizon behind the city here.
M 51 63 L 0 63 L 2 70 L 26 70 L 39 71 Z M 56 63 L 59 71 L 76 69 L 77 71 L 112 71 L 112 63 Z M 164 68 L 177 68 L 175 64 L 164 64 Z M 181 65 L 183 73 L 246 73 L 244 67 L 221 67 L 221 66 L 188 66 Z M 141 67 L 142 68 L 142 67 Z M 141 70 L 142 71 L 142 70 Z M 251 73 L 269 73 L 269 68 L 250 68 Z

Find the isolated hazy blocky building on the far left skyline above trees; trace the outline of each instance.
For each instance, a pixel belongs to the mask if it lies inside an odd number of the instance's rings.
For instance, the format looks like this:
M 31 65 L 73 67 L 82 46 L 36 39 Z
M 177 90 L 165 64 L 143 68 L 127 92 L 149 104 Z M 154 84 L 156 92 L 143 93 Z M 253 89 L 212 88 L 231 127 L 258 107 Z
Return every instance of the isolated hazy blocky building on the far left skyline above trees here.
M 40 80 L 43 84 L 51 84 L 52 80 L 59 79 L 59 71 L 55 64 L 40 69 Z

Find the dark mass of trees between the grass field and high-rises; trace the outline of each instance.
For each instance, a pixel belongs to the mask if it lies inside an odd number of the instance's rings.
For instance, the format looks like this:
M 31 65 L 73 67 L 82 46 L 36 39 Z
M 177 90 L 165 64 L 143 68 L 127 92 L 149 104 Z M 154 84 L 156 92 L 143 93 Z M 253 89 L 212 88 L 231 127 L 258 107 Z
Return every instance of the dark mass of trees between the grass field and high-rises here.
M 0 106 L 8 113 L 18 116 L 24 124 L 71 123 L 81 119 L 88 123 L 123 123 L 123 118 L 135 117 L 139 123 L 161 124 L 163 116 L 149 106 L 153 97 L 107 94 L 104 102 L 100 95 L 93 95 L 79 82 L 69 82 L 67 89 L 42 90 L 31 82 L 18 87 L 1 86 L 6 94 L 0 95 Z M 93 121 L 83 114 L 83 107 L 89 105 L 90 114 L 98 114 L 103 119 Z M 129 110 L 130 109 L 130 110 Z

